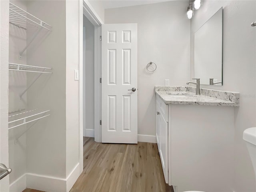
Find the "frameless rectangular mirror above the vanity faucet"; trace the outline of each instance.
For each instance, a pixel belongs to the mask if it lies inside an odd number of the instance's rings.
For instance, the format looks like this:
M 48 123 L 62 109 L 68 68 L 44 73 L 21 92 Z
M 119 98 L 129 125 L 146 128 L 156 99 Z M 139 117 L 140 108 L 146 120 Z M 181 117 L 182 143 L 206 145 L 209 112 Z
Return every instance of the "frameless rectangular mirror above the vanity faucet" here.
M 194 78 L 222 85 L 222 8 L 194 34 Z

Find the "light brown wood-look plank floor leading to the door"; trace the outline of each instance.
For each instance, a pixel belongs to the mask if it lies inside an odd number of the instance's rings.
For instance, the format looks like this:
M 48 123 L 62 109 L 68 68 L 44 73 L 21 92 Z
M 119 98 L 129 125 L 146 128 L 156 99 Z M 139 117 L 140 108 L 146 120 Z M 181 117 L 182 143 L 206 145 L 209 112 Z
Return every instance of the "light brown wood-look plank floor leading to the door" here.
M 84 170 L 70 192 L 169 191 L 156 144 L 103 144 L 84 138 Z

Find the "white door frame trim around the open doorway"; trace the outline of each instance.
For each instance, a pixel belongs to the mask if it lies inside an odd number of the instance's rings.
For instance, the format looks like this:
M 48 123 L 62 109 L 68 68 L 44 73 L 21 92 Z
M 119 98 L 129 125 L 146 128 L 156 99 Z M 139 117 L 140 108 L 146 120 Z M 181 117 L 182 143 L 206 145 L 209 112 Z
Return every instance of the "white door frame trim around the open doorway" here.
M 102 21 L 96 16 L 96 13 L 94 10 L 91 10 L 90 5 L 88 5 L 85 1 L 83 1 L 83 8 L 82 8 L 83 14 L 80 15 L 81 22 L 80 22 L 80 27 L 79 27 L 79 38 L 80 38 L 80 63 L 79 63 L 79 97 L 78 97 L 78 102 L 79 102 L 79 162 L 80 162 L 80 173 L 83 171 L 83 149 L 84 149 L 84 136 L 87 134 L 90 134 L 90 136 L 94 136 L 94 140 L 96 142 L 101 142 L 101 130 L 100 130 L 100 95 L 101 95 L 101 90 L 100 90 L 100 82 L 95 81 L 96 79 L 99 80 L 101 77 L 101 44 L 100 44 L 100 35 L 101 35 L 101 25 Z M 84 29 L 84 18 L 90 21 L 90 23 L 94 26 L 94 71 L 93 73 L 93 78 L 94 78 L 94 89 L 91 89 L 91 92 L 94 92 L 94 101 L 90 101 L 90 103 L 94 104 L 94 111 L 89 111 L 88 113 L 94 114 L 94 125 L 93 127 L 88 126 L 88 130 L 86 133 L 86 83 L 84 78 L 86 78 L 86 68 L 84 69 L 84 60 L 86 57 L 86 29 Z M 85 37 L 85 38 L 84 38 Z M 91 37 L 92 38 L 92 37 Z M 86 60 L 85 60 L 86 61 Z M 87 117 L 88 119 L 88 117 Z M 95 124 L 95 122 L 98 122 Z M 90 122 L 92 124 L 92 122 Z M 93 130 L 94 129 L 94 130 Z M 92 131 L 93 130 L 93 131 Z

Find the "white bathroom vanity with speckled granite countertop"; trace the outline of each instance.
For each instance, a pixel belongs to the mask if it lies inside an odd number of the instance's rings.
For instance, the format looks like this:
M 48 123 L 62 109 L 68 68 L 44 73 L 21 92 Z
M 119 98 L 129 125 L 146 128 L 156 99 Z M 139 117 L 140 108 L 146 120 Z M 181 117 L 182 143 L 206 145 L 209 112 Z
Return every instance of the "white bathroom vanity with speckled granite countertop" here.
M 155 87 L 156 141 L 174 191 L 230 191 L 239 93 Z M 214 182 L 213 182 L 214 181 Z

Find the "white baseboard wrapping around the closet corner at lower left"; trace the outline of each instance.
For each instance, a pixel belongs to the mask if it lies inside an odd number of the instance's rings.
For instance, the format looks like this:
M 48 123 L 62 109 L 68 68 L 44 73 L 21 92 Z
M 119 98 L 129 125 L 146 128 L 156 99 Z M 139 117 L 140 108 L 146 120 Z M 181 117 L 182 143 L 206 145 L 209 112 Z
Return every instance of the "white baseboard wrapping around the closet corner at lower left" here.
M 21 192 L 26 188 L 49 192 L 69 192 L 79 176 L 79 163 L 76 164 L 66 179 L 34 173 L 25 173 L 10 184 L 10 192 Z

